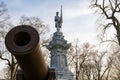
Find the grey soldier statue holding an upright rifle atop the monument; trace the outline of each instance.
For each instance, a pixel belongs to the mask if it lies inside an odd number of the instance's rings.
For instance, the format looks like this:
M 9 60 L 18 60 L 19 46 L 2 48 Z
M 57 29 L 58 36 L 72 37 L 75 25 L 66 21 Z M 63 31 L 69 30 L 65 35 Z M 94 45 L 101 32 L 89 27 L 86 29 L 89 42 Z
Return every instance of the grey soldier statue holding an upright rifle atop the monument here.
M 62 27 L 62 6 L 61 6 L 61 14 L 59 16 L 59 12 L 56 12 L 55 16 L 55 27 L 57 28 L 57 32 L 60 32 L 60 29 Z

